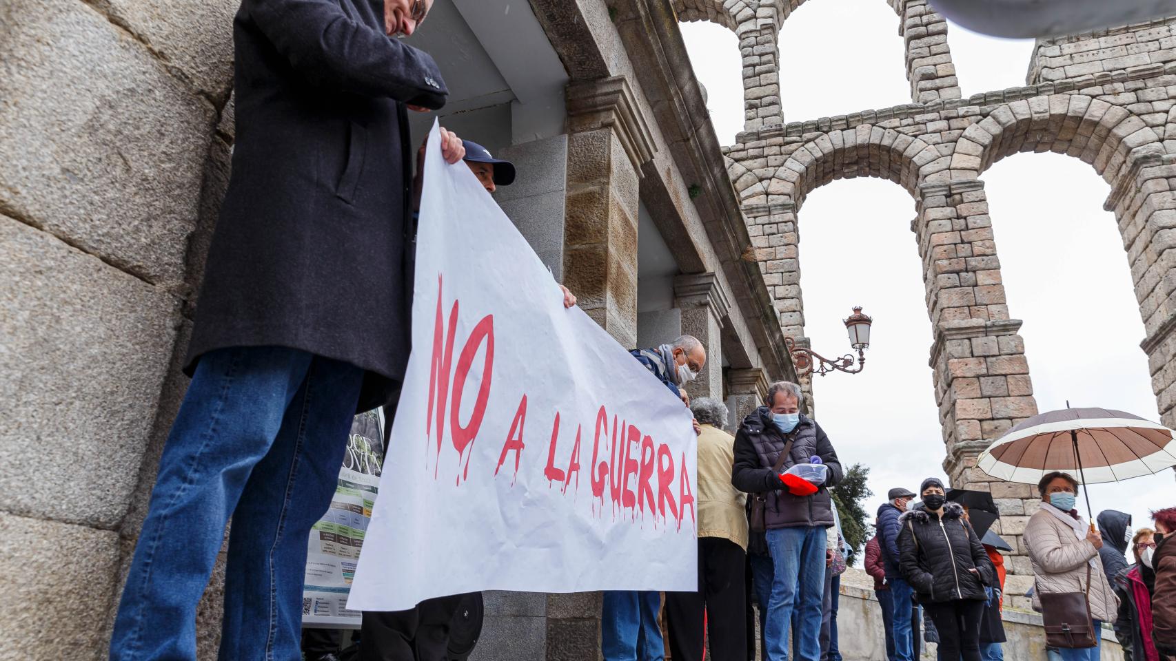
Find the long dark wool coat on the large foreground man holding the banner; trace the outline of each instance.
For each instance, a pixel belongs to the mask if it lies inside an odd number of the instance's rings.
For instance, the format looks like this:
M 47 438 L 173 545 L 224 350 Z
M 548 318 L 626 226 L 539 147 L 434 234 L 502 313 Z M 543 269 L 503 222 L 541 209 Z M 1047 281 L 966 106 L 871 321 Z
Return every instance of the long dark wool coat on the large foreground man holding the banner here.
M 233 175 L 186 371 L 214 349 L 289 346 L 366 370 L 372 409 L 409 350 L 405 103 L 440 108 L 448 90 L 385 34 L 381 0 L 243 0 L 233 41 Z

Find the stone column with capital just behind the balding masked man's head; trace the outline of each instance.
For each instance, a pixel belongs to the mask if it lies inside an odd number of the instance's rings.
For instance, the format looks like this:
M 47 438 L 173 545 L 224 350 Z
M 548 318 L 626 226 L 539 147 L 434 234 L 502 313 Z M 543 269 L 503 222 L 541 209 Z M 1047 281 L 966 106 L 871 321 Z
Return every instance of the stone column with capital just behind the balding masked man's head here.
M 674 278 L 674 305 L 682 310 L 682 332 L 693 335 L 707 350 L 707 364 L 686 386 L 690 398 L 723 396 L 723 318 L 730 303 L 715 274 L 689 274 Z

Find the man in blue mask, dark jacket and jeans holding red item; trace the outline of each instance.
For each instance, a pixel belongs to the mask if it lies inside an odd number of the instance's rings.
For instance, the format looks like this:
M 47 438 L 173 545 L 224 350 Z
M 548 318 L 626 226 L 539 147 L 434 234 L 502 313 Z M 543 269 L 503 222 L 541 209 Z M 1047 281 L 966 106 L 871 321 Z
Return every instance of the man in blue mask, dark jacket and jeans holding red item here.
M 841 481 L 842 468 L 829 437 L 800 412 L 802 398 L 794 383 L 771 384 L 766 405 L 748 414 L 735 436 L 731 484 L 763 498 L 764 538 L 771 557 L 770 586 L 762 591 L 768 595 L 767 661 L 788 661 L 794 608 L 796 659 L 817 661 L 821 656 L 824 573 L 833 554 L 826 528 L 835 522 L 828 488 Z M 811 463 L 813 457 L 828 466 L 824 484 L 807 495 L 790 492 L 780 474 L 796 464 Z M 756 575 L 755 580 L 762 585 L 767 578 Z

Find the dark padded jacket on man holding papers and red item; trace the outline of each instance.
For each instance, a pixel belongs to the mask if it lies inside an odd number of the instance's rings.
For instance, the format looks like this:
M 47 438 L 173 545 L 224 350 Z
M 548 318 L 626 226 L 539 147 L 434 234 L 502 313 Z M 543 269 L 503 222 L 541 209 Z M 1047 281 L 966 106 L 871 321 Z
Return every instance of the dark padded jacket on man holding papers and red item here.
M 766 493 L 764 520 L 768 530 L 799 526 L 834 525 L 833 498 L 827 487 L 841 481 L 841 461 L 829 443 L 829 437 L 815 421 L 801 416 L 801 421 L 793 430 L 796 438 L 789 458 L 784 460 L 780 473 L 796 464 L 807 464 L 813 456 L 829 467 L 828 477 L 813 495 L 793 495 L 783 488 L 780 474 L 773 472 L 780 453 L 784 450 L 784 436 L 773 421 L 771 410 L 760 406 L 743 419 L 735 434 L 735 464 L 731 468 L 731 484 L 747 493 Z

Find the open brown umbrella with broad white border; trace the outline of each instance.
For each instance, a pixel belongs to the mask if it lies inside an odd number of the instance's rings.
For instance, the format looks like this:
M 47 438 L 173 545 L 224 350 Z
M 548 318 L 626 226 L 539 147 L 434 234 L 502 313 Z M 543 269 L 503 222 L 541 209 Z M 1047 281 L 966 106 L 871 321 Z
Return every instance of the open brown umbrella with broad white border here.
M 1122 481 L 1176 466 L 1172 436 L 1158 423 L 1122 411 L 1063 409 L 1013 427 L 981 453 L 976 466 L 1022 484 L 1037 484 L 1053 471 L 1077 471 L 1082 484 Z M 1093 519 L 1089 494 L 1087 512 Z

